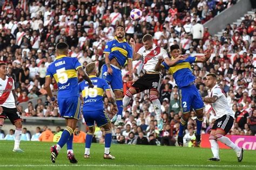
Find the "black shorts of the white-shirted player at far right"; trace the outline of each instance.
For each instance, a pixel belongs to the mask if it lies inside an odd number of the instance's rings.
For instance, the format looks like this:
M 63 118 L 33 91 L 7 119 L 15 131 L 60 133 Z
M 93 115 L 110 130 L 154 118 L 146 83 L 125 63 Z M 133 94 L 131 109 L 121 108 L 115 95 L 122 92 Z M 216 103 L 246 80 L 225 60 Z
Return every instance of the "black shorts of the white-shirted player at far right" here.
M 223 117 L 218 118 L 214 125 L 212 126 L 212 130 L 221 129 L 225 131 L 225 134 L 227 134 L 234 123 L 234 118 L 230 115 L 224 115 Z

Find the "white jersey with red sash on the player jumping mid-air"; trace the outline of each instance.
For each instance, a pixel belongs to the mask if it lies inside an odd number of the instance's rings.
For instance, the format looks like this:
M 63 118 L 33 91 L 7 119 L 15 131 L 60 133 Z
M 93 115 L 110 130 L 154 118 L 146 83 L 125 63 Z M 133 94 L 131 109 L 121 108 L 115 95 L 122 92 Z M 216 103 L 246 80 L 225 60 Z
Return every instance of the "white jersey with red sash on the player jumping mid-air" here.
M 163 58 L 169 57 L 167 52 L 164 48 L 161 48 L 160 46 L 156 46 L 153 44 L 153 48 L 150 50 L 146 50 L 145 47 L 139 48 L 138 54 L 142 55 L 143 57 L 143 72 L 154 72 L 154 73 L 161 73 L 156 72 L 154 70 L 154 67 L 156 67 L 156 64 L 158 62 L 159 56 L 163 56 Z

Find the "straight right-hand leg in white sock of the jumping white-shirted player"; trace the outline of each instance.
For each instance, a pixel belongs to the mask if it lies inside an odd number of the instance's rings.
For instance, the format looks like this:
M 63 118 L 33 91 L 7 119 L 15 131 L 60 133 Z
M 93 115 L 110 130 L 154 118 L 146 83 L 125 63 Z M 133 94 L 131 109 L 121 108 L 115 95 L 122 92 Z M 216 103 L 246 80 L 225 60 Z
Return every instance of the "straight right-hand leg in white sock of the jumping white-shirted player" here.
M 154 106 L 154 111 L 157 115 L 157 129 L 158 131 L 163 130 L 163 119 L 161 119 L 161 103 L 158 100 L 158 91 L 156 89 L 150 90 L 150 100 Z

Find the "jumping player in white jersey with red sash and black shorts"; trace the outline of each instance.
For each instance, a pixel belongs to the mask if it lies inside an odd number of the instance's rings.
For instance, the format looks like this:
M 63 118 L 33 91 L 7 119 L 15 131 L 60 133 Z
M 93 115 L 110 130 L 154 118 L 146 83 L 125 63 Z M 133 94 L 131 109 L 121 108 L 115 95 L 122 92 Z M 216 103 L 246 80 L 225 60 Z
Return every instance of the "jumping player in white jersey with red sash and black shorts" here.
M 143 72 L 144 75 L 140 77 L 132 86 L 126 91 L 123 99 L 124 107 L 130 103 L 131 97 L 137 93 L 149 89 L 150 100 L 153 103 L 154 110 L 157 118 L 157 128 L 159 131 L 163 130 L 163 119 L 161 119 L 161 103 L 158 100 L 158 93 L 161 87 L 161 72 L 156 72 L 154 67 L 158 62 L 158 58 L 162 57 L 169 65 L 173 65 L 179 60 L 185 59 L 180 55 L 175 60 L 170 60 L 167 52 L 164 48 L 153 44 L 153 37 L 150 34 L 146 34 L 142 38 L 143 47 L 134 55 L 133 60 L 138 60 L 143 57 Z M 133 49 L 135 43 L 131 43 Z

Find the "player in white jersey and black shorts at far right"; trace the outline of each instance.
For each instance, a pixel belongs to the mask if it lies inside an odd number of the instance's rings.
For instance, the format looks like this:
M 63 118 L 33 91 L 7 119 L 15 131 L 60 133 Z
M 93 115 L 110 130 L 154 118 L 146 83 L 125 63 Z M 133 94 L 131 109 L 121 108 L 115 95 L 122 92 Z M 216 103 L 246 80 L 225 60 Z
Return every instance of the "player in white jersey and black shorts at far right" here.
M 226 133 L 230 131 L 234 123 L 233 111 L 228 107 L 226 94 L 218 84 L 216 84 L 217 76 L 215 74 L 208 74 L 206 76 L 206 86 L 210 88 L 208 90 L 208 96 L 204 97 L 203 101 L 211 103 L 214 115 L 217 116 L 217 120 L 213 122 L 212 131 L 210 134 L 210 143 L 213 153 L 213 158 L 208 160 L 220 161 L 219 158 L 219 145 L 217 140 L 225 145 L 231 147 L 237 154 L 238 162 L 242 161 L 244 154 L 243 148 L 239 148 L 229 138 L 225 137 Z

